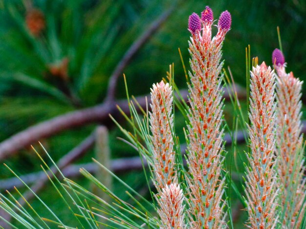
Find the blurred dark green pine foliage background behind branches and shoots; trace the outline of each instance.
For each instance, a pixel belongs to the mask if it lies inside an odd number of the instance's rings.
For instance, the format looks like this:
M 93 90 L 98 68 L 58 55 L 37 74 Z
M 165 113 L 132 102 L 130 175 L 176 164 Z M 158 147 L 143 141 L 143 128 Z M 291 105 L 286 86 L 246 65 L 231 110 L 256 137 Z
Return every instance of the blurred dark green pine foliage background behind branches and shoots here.
M 251 57 L 258 56 L 260 62 L 271 65 L 272 51 L 279 47 L 277 26 L 288 71 L 305 79 L 304 0 L 0 0 L 0 141 L 40 121 L 102 103 L 117 63 L 152 21 L 171 7 L 171 16 L 122 73 L 132 95 L 145 95 L 174 63 L 175 82 L 179 88 L 186 88 L 178 48 L 189 69 L 188 17 L 193 12 L 200 14 L 205 5 L 213 9 L 215 19 L 224 10 L 232 14 L 232 29 L 223 48 L 224 67 L 230 66 L 235 81 L 242 87 L 246 82 L 245 47 L 251 46 Z M 214 28 L 213 33 L 216 32 Z M 122 73 L 116 98 L 125 98 Z M 226 105 L 230 111 L 231 104 Z M 230 112 L 225 115 L 231 120 Z M 184 121 L 179 115 L 176 123 L 181 132 Z M 41 140 L 57 161 L 96 125 Z M 120 131 L 111 128 L 109 146 L 113 158 L 138 155 L 116 139 L 118 136 L 122 136 Z M 182 136 L 181 141 L 184 142 Z M 78 162 L 89 162 L 92 156 L 94 153 L 89 152 Z M 37 156 L 30 149 L 23 149 L 5 163 L 19 174 L 40 170 Z M 139 172 L 121 176 L 138 190 L 146 186 Z M 0 166 L 0 178 L 8 177 L 10 172 Z M 83 179 L 79 181 L 88 185 Z M 48 199 L 52 191 L 47 187 L 43 193 Z M 51 203 L 59 212 L 65 212 L 55 199 Z M 242 216 L 237 223 L 244 220 Z

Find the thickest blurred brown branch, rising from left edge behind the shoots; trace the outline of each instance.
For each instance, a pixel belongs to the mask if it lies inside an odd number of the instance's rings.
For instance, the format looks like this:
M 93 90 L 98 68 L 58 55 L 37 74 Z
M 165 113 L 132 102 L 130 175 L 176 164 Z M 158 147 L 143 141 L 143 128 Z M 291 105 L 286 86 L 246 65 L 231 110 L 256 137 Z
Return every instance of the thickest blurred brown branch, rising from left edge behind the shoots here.
M 237 88 L 237 90 L 239 98 L 245 97 L 245 93 L 241 88 Z M 187 100 L 187 90 L 180 91 L 180 94 Z M 146 97 L 148 97 L 148 102 L 150 103 L 150 95 L 136 97 L 136 100 L 143 109 L 146 109 Z M 229 93 L 227 90 L 225 90 L 223 97 L 229 100 Z M 42 138 L 58 134 L 74 127 L 85 126 L 96 122 L 107 125 L 108 122 L 111 121 L 109 114 L 114 117 L 120 114 L 116 105 L 118 105 L 124 113 L 130 113 L 129 103 L 126 99 L 113 102 L 105 101 L 100 105 L 59 115 L 31 126 L 0 143 L 0 160 L 14 155 L 19 150 L 30 146 L 33 142 L 38 142 Z M 136 107 L 136 109 L 139 111 L 138 107 Z

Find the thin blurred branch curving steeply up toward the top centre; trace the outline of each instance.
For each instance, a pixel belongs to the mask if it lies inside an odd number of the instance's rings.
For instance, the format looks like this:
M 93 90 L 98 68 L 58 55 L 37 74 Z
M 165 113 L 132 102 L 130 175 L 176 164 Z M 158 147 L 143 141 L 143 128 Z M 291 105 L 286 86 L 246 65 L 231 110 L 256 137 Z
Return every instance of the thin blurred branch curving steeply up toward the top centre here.
M 107 101 L 114 100 L 118 78 L 122 74 L 124 68 L 130 62 L 131 58 L 145 44 L 145 42 L 151 38 L 151 36 L 158 30 L 158 28 L 162 25 L 162 23 L 171 15 L 174 9 L 175 7 L 173 5 L 170 9 L 165 11 L 159 18 L 155 19 L 151 23 L 149 28 L 132 43 L 131 47 L 127 50 L 123 58 L 117 64 L 115 70 L 113 71 L 113 73 L 109 78 L 108 92 L 106 96 Z

